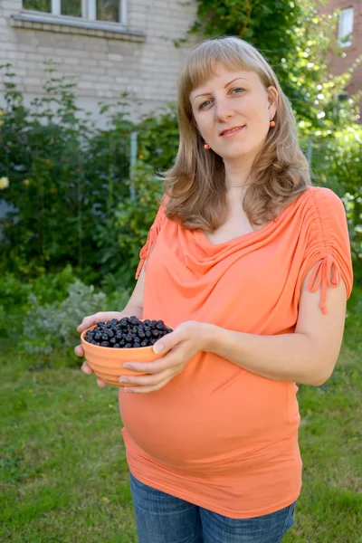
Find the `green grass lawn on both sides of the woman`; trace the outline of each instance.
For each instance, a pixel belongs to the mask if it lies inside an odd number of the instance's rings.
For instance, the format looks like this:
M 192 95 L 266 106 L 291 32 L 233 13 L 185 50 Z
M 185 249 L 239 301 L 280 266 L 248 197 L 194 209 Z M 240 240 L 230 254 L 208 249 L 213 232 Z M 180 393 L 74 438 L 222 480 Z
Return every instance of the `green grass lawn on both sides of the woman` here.
M 361 338 L 349 315 L 332 378 L 300 387 L 304 483 L 286 543 L 362 543 Z M 3 346 L 0 541 L 136 542 L 118 389 Z

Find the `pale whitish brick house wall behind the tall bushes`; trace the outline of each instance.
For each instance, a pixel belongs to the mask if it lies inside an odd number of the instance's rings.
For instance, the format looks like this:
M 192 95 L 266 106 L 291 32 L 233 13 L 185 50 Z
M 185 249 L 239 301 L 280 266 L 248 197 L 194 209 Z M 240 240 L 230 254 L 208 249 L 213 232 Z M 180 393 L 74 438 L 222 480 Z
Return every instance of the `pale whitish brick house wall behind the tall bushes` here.
M 188 5 L 128 0 L 127 28 L 144 33 L 142 37 L 54 24 L 14 26 L 19 23 L 12 15 L 21 13 L 21 0 L 0 0 L 0 64 L 13 64 L 25 103 L 42 94 L 43 62 L 52 59 L 57 75 L 77 77 L 82 107 L 96 114 L 99 100 L 116 101 L 129 92 L 137 117 L 176 99 L 180 63 L 199 38 L 192 36 L 179 48 L 173 41 L 186 37 L 195 9 L 193 0 Z M 3 90 L 0 79 L 0 100 Z

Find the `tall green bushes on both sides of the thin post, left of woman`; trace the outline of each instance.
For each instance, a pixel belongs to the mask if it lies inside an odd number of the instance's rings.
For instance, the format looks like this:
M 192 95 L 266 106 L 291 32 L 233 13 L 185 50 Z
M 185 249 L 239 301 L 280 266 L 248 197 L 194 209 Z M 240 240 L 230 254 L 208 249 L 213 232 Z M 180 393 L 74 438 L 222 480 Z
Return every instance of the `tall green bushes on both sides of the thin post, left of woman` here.
M 126 100 L 116 107 L 103 105 L 100 113 L 108 116 L 108 124 L 99 130 L 76 107 L 74 84 L 53 77 L 51 66 L 45 70 L 45 98 L 29 108 L 12 82 L 10 65 L 6 68 L 0 178 L 9 185 L 0 189 L 16 211 L 0 224 L 0 271 L 26 281 L 68 262 L 87 284 L 131 287 L 135 255 L 157 209 L 155 188 L 147 184 L 176 156 L 175 108 L 169 106 L 157 118 L 146 116 L 136 126 L 126 119 Z M 130 197 L 133 130 L 138 131 L 138 201 Z

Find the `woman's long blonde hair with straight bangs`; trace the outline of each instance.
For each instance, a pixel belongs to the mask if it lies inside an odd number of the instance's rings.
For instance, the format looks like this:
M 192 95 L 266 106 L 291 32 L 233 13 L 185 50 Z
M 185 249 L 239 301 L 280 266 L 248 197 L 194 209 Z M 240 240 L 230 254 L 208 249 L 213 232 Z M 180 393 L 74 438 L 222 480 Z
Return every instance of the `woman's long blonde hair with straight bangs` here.
M 279 92 L 275 128 L 252 165 L 243 209 L 252 225 L 270 222 L 276 209 L 290 204 L 310 186 L 310 169 L 297 140 L 291 104 L 268 62 L 250 43 L 226 36 L 206 39 L 187 55 L 178 81 L 179 147 L 175 166 L 165 172 L 165 213 L 190 230 L 214 232 L 227 220 L 224 162 L 205 151 L 190 102 L 190 92 L 214 74 L 217 62 L 233 71 L 255 71 L 265 89 Z

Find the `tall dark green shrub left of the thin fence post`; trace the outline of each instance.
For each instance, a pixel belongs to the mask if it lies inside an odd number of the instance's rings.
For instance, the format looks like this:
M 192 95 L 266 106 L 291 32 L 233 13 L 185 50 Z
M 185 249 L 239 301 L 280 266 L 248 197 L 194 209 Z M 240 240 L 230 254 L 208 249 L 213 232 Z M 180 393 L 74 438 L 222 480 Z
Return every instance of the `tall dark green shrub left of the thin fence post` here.
M 37 275 L 70 262 L 94 279 L 102 272 L 94 235 L 127 195 L 129 131 L 119 114 L 100 132 L 75 106 L 74 85 L 52 77 L 46 98 L 24 107 L 10 68 L 0 132 L 1 193 L 17 211 L 2 224 L 2 269 Z M 120 262 L 120 261 L 119 261 Z

